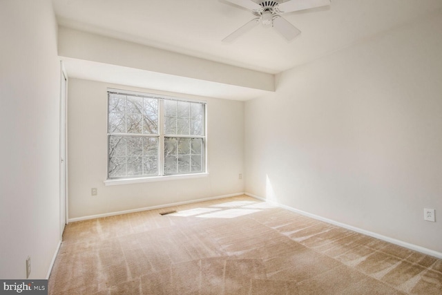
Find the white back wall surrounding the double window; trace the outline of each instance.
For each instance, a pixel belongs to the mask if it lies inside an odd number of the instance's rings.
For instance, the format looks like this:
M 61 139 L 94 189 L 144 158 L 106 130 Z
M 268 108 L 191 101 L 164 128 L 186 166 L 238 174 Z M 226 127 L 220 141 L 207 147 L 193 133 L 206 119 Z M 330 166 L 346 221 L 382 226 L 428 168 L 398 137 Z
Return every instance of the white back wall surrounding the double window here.
M 153 207 L 244 191 L 244 103 L 209 97 L 209 176 L 141 184 L 105 186 L 107 161 L 107 87 L 145 93 L 146 89 L 70 79 L 68 91 L 69 218 Z M 177 96 L 173 93 L 165 93 Z M 98 196 L 90 196 L 96 187 Z

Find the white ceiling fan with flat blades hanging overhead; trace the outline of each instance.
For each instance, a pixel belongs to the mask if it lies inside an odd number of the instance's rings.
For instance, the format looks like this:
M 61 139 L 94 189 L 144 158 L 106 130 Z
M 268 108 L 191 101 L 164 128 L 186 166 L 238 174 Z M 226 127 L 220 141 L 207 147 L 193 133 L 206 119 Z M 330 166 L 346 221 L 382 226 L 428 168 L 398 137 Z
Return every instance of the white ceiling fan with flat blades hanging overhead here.
M 238 38 L 244 32 L 262 23 L 263 26 L 272 26 L 280 34 L 291 41 L 298 36 L 301 31 L 294 25 L 289 23 L 286 19 L 281 17 L 282 13 L 294 12 L 298 10 L 305 10 L 316 8 L 320 6 L 330 5 L 330 0 L 289 0 L 282 2 L 281 0 L 274 1 L 260 1 L 256 3 L 252 0 L 226 0 L 243 8 L 251 10 L 251 13 L 256 16 L 244 26 L 231 33 L 231 35 L 222 39 L 223 42 L 231 42 Z M 281 3 L 282 2 L 282 3 Z

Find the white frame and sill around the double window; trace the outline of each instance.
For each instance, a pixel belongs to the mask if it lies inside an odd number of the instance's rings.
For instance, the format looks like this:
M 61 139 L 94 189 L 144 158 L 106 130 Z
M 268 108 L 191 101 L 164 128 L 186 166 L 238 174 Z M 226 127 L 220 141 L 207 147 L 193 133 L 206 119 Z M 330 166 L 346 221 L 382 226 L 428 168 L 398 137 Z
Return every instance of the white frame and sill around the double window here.
M 158 137 L 158 175 L 154 176 L 140 176 L 140 177 L 122 177 L 122 178 L 108 178 L 109 172 L 109 135 L 128 135 L 128 133 L 109 133 L 109 93 L 117 93 L 121 95 L 135 95 L 141 97 L 155 97 L 158 99 L 158 135 L 146 135 L 151 137 Z M 168 95 L 159 95 L 155 93 L 142 93 L 137 91 L 126 91 L 122 89 L 107 88 L 106 91 L 106 180 L 104 184 L 107 185 L 118 185 L 118 184 L 133 184 L 139 182 L 155 182 L 163 180 L 176 180 L 184 178 L 202 178 L 209 175 L 208 167 L 208 157 L 207 157 L 207 103 L 204 100 L 187 99 L 183 97 L 172 97 Z M 204 129 L 203 135 L 168 135 L 164 134 L 164 99 L 182 101 L 182 102 L 196 102 L 202 104 L 203 106 L 203 116 L 202 116 L 202 127 Z M 202 150 L 204 155 L 202 155 L 202 172 L 198 173 L 177 173 L 177 174 L 164 174 L 164 137 L 174 137 L 174 138 L 202 138 L 203 146 Z

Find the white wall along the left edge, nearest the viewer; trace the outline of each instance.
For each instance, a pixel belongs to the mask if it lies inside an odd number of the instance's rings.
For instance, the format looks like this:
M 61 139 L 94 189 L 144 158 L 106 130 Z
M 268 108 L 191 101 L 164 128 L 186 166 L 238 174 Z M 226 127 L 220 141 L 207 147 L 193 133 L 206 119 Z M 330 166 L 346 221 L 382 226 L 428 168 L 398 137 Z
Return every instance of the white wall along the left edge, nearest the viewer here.
M 46 278 L 59 242 L 59 59 L 49 0 L 0 1 L 0 278 Z

